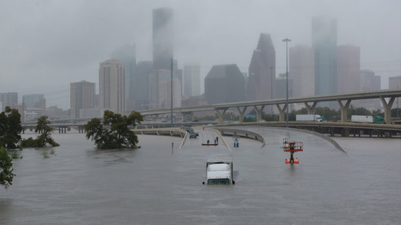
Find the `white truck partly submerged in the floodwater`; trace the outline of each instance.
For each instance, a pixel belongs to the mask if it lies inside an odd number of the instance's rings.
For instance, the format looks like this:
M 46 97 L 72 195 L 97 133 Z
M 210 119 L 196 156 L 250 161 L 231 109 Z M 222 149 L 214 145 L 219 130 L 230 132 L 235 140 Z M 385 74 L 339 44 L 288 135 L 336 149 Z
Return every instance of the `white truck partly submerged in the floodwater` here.
M 203 182 L 205 184 L 205 182 Z M 234 185 L 234 171 L 230 154 L 210 154 L 206 162 L 207 185 Z

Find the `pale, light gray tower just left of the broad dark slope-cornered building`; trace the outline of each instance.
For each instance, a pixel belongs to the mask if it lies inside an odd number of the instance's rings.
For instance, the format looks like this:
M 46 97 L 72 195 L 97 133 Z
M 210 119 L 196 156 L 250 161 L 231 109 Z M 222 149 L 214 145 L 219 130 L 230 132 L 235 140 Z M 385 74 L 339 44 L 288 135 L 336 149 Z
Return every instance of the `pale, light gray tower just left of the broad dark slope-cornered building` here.
M 184 66 L 184 95 L 187 97 L 200 95 L 200 67 L 199 65 Z

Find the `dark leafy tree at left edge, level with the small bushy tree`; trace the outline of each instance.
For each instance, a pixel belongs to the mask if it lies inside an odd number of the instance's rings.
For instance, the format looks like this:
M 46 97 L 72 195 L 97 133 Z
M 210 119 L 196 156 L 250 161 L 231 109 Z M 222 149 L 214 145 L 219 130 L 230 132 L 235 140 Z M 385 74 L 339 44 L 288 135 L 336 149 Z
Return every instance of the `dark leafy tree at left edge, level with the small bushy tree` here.
M 0 113 L 0 147 L 18 147 L 21 131 L 21 115 L 18 110 L 5 106 L 5 110 Z

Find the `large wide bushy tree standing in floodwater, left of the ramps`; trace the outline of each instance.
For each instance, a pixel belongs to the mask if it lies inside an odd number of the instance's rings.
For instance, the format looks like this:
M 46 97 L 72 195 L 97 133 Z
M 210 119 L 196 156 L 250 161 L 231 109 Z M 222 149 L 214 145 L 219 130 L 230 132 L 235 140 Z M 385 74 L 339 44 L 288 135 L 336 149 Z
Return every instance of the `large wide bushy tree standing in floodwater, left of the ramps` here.
M 95 142 L 97 148 L 136 148 L 138 137 L 128 126 L 136 126 L 143 121 L 139 112 L 125 115 L 114 114 L 109 110 L 104 112 L 103 122 L 94 118 L 85 125 L 86 138 Z

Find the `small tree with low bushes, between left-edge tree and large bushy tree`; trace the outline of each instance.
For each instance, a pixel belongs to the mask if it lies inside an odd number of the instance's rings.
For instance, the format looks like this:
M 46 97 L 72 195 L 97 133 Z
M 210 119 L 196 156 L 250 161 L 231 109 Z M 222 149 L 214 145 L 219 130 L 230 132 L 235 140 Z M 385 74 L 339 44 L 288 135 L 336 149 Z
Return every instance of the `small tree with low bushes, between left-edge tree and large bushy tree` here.
M 47 143 L 53 147 L 60 146 L 51 138 L 53 128 L 47 126 L 48 123 L 50 123 L 50 121 L 47 120 L 47 116 L 39 117 L 35 132 L 42 134 L 40 134 L 36 139 L 33 139 L 32 137 L 29 137 L 29 139 L 23 139 L 21 141 L 22 147 L 45 147 Z

